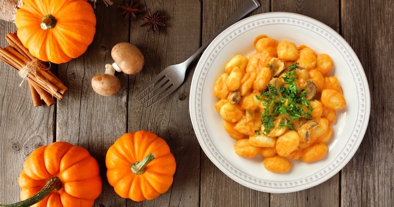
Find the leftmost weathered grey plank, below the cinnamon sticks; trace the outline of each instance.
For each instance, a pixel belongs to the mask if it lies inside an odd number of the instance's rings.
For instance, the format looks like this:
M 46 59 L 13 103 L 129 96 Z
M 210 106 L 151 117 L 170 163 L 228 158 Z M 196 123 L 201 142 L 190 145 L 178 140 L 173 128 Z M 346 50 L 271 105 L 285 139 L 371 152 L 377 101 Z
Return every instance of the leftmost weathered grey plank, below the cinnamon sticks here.
M 0 46 L 8 46 L 5 35 L 14 32 L 11 22 L 0 20 Z M 29 86 L 16 70 L 0 63 L 0 203 L 20 201 L 18 176 L 26 157 L 54 138 L 54 105 L 33 107 Z

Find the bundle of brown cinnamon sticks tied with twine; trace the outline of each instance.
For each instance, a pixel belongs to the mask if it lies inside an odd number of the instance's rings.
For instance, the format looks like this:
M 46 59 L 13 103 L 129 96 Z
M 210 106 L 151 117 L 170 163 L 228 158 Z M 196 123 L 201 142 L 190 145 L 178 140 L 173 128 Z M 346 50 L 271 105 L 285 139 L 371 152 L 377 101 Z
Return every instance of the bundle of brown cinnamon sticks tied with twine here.
M 15 33 L 8 33 L 5 37 L 9 46 L 0 47 L 0 60 L 16 69 L 23 78 L 21 84 L 27 80 L 32 94 L 33 105 L 48 106 L 62 100 L 68 88 L 44 63 L 29 53 Z

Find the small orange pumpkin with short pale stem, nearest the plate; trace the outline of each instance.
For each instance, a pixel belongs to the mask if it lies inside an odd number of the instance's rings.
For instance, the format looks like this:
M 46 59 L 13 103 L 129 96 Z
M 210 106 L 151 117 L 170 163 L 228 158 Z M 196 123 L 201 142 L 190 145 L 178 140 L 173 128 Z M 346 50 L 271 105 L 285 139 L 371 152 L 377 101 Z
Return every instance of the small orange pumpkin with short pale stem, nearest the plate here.
M 163 138 L 153 132 L 127 133 L 109 147 L 107 179 L 122 198 L 152 200 L 171 186 L 175 158 Z

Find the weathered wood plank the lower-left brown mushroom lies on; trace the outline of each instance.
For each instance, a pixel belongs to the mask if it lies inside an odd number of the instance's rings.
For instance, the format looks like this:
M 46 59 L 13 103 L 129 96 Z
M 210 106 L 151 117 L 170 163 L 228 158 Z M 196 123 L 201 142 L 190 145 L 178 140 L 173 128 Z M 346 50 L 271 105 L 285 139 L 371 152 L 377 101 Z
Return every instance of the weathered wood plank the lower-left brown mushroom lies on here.
M 103 73 L 105 64 L 113 63 L 112 47 L 129 41 L 129 20 L 120 15 L 118 8 L 123 3 L 114 1 L 108 7 L 102 1 L 96 3 L 97 26 L 92 44 L 84 55 L 62 64 L 58 71 L 69 91 L 57 106 L 56 140 L 85 147 L 98 161 L 103 187 L 95 206 L 126 206 L 126 200 L 116 195 L 106 180 L 105 154 L 127 132 L 128 76 L 116 73 L 122 88 L 111 97 L 96 94 L 91 86 L 92 77 Z

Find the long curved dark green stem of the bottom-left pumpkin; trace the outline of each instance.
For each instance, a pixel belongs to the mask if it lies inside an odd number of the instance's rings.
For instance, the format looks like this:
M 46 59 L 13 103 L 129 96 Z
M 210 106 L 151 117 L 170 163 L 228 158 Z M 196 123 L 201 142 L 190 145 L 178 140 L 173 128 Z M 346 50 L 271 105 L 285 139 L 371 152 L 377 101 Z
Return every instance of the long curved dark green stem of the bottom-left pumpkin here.
M 30 207 L 47 197 L 52 191 L 60 190 L 61 187 L 62 181 L 59 177 L 52 177 L 46 182 L 45 186 L 32 197 L 15 204 L 0 205 L 0 207 Z

